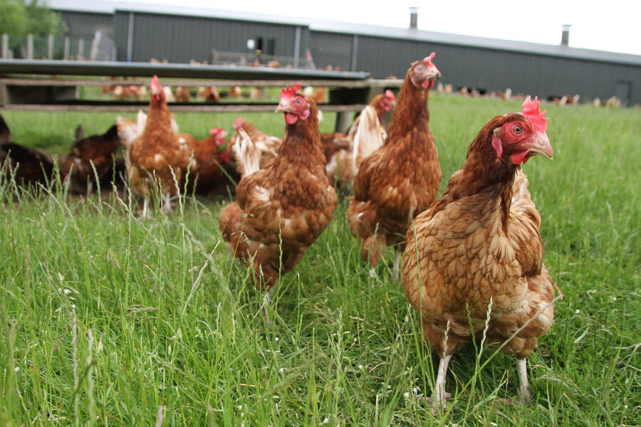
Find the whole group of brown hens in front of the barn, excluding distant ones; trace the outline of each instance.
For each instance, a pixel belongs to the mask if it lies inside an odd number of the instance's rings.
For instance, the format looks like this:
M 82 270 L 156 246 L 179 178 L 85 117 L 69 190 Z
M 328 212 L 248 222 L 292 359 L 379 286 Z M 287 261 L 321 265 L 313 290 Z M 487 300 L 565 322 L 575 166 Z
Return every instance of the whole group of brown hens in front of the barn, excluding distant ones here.
M 236 201 L 222 209 L 219 227 L 231 253 L 266 291 L 265 304 L 279 276 L 296 267 L 330 222 L 337 181 L 351 184 L 348 223 L 363 261 L 377 265 L 385 248 L 395 249 L 395 278 L 400 275 L 424 339 L 441 358 L 432 404 L 446 405 L 452 354 L 481 337 L 516 355 L 520 396 L 528 401 L 526 357 L 551 328 L 555 285 L 543 265 L 541 216 L 521 164 L 535 154 L 552 159 L 547 119 L 538 99 L 528 97 L 521 112 L 489 120 L 437 199 L 442 174 L 428 97 L 441 75 L 433 59 L 434 53 L 412 63 L 398 96 L 377 95 L 346 134 L 320 134 L 316 102 L 301 85 L 284 88 L 276 108 L 285 120 L 282 139 L 241 117 L 229 142 L 221 129 L 203 140 L 179 133 L 154 77 L 147 115 L 118 118 L 94 137 L 93 146 L 103 151 L 90 152 L 78 139 L 61 170 L 95 183 L 113 174 L 105 153 L 123 143 L 123 171 L 145 200 L 143 217 L 155 191 L 170 209 L 179 191 L 209 191 L 235 176 Z M 386 130 L 381 117 L 393 105 Z M 2 144 L 5 170 L 16 179 L 18 147 Z

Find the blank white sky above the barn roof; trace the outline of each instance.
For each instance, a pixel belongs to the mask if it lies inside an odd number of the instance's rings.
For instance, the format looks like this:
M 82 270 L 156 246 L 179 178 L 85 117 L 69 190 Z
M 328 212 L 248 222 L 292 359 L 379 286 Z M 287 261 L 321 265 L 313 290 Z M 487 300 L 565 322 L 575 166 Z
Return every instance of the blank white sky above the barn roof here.
M 569 23 L 570 46 L 641 55 L 641 22 L 635 1 L 499 0 L 130 0 L 131 4 L 172 4 L 308 19 L 406 28 L 410 6 L 419 8 L 426 31 L 558 45 Z M 590 4 L 591 3 L 591 4 Z

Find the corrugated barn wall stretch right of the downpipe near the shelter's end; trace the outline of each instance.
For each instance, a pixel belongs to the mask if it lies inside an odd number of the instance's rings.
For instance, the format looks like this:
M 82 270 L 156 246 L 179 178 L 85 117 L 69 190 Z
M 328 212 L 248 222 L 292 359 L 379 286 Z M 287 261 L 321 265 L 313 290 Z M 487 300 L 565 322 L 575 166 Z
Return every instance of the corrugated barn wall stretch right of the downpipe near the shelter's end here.
M 617 95 L 624 103 L 626 98 L 627 103 L 641 102 L 638 67 L 558 56 L 359 36 L 357 70 L 368 70 L 375 78 L 405 78 L 411 63 L 432 51 L 441 81 L 455 89 L 511 88 L 541 98 L 579 94 L 583 100 Z

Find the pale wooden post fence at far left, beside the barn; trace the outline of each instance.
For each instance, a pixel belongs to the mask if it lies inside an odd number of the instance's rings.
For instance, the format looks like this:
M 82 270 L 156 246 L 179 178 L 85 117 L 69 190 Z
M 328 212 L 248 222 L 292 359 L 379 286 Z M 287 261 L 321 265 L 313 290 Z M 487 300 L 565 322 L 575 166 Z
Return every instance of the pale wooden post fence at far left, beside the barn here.
M 96 31 L 92 40 L 65 36 L 9 36 L 2 34 L 3 59 L 115 60 L 115 43 Z

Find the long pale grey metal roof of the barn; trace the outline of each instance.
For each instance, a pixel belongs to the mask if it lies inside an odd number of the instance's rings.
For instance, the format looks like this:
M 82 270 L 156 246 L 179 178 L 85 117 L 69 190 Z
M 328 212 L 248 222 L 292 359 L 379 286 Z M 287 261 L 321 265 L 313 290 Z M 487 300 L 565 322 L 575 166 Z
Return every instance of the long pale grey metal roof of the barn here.
M 49 0 L 49 6 L 56 10 L 93 11 L 111 13 L 118 11 L 142 12 L 148 14 L 165 14 L 177 16 L 197 16 L 201 18 L 231 19 L 239 21 L 277 23 L 279 25 L 306 26 L 311 31 L 330 33 L 355 34 L 382 38 L 397 38 L 403 40 L 422 41 L 426 43 L 444 43 L 459 46 L 474 46 L 478 48 L 499 51 L 516 51 L 538 55 L 559 56 L 580 60 L 597 60 L 610 63 L 641 65 L 641 56 L 627 53 L 608 51 L 593 51 L 590 49 L 573 48 L 570 46 L 547 45 L 524 41 L 510 41 L 499 38 L 466 36 L 454 33 L 439 33 L 423 31 L 414 28 L 393 28 L 360 23 L 324 21 L 317 19 L 292 18 L 265 14 L 247 14 L 245 12 L 225 11 L 219 9 L 189 8 L 164 4 L 131 4 L 123 1 L 85 0 Z

